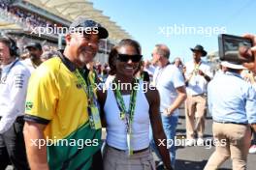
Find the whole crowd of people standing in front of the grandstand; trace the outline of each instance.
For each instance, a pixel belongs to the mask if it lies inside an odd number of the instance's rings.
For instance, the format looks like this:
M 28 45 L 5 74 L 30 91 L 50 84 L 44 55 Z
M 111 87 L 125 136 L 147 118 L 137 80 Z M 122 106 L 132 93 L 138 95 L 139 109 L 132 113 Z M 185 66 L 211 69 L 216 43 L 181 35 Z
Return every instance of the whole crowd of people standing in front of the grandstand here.
M 246 169 L 248 152 L 256 153 L 254 63 L 225 61 L 213 75 L 200 44 L 190 48 L 193 57 L 183 65 L 178 57 L 171 63 L 171 51 L 161 43 L 151 61 L 143 61 L 140 43 L 124 39 L 112 47 L 109 63 L 100 64 L 93 58 L 108 30 L 84 17 L 71 24 L 95 26 L 98 34 L 67 34 L 62 51 L 30 42 L 24 60 L 14 40 L 0 38 L 0 169 L 10 163 L 22 170 L 175 169 L 182 103 L 185 146 L 204 146 L 207 111 L 214 140 L 225 141 L 205 169 L 217 169 L 229 157 L 233 169 Z M 247 37 L 256 45 L 255 36 Z M 256 56 L 255 46 L 252 52 Z

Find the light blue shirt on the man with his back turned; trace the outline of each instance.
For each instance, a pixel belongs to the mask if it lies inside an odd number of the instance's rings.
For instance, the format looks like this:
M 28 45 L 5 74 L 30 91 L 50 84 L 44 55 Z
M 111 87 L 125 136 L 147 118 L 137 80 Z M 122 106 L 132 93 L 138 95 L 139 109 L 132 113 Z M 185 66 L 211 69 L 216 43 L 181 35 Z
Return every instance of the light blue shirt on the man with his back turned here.
M 256 91 L 239 73 L 219 73 L 208 84 L 208 109 L 216 122 L 256 123 Z

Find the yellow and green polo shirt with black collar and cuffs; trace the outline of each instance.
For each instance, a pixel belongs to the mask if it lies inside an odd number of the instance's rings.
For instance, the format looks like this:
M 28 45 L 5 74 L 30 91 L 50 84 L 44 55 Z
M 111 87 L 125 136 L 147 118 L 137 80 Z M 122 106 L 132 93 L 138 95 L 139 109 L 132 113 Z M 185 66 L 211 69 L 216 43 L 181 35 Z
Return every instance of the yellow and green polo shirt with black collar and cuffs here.
M 54 170 L 89 169 L 101 148 L 101 129 L 89 126 L 87 97 L 75 70 L 67 58 L 53 57 L 29 80 L 24 119 L 47 125 L 48 164 Z

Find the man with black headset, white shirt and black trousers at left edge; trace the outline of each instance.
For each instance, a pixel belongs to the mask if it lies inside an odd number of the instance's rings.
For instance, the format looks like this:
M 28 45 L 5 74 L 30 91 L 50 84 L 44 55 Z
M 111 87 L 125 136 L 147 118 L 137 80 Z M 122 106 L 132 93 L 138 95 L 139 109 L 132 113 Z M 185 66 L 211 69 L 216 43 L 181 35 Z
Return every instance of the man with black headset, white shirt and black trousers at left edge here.
M 23 138 L 29 70 L 18 60 L 16 42 L 0 37 L 0 169 L 11 162 L 29 169 Z

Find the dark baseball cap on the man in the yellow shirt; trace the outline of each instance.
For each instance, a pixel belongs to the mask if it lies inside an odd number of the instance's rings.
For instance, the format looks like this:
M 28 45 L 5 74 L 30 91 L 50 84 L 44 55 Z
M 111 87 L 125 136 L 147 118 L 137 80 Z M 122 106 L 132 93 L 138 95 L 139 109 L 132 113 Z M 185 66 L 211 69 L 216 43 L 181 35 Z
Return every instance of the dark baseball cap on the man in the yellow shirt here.
M 108 30 L 103 27 L 100 23 L 88 19 L 84 16 L 79 16 L 77 17 L 70 25 L 70 30 L 74 28 L 93 28 L 97 27 L 98 28 L 98 35 L 100 39 L 107 39 L 109 37 L 109 32 Z

